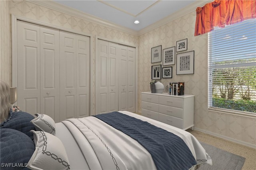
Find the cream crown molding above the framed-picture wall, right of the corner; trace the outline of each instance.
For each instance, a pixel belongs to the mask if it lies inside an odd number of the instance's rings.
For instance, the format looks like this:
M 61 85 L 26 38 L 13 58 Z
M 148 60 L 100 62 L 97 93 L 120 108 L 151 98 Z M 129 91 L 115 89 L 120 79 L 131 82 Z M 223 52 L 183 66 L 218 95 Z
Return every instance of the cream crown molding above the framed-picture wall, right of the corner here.
M 161 27 L 162 25 L 165 25 L 173 20 L 176 20 L 177 18 L 180 18 L 182 16 L 185 16 L 191 12 L 195 12 L 196 8 L 199 6 L 204 6 L 205 4 L 212 2 L 212 0 L 197 0 L 190 4 L 189 6 L 186 6 L 185 8 L 182 8 L 181 10 L 174 12 L 173 14 L 163 18 L 162 20 L 156 21 L 155 23 L 141 29 L 138 31 L 138 35 L 143 35 L 149 31 L 152 31 L 153 29 L 156 29 L 158 27 Z

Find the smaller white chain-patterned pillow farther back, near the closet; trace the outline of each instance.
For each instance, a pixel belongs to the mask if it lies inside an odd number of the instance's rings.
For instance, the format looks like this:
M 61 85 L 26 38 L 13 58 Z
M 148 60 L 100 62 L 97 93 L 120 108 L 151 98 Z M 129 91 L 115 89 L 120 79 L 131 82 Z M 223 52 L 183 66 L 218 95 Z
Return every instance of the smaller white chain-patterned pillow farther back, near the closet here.
M 36 127 L 37 131 L 45 131 L 55 135 L 55 122 L 52 117 L 44 114 L 35 114 L 37 117 L 31 121 Z

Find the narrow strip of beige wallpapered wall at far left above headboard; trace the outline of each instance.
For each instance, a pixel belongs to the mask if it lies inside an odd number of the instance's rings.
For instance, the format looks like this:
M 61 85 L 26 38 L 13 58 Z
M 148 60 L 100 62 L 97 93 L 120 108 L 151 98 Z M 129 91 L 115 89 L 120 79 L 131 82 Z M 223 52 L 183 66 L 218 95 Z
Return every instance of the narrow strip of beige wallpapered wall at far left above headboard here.
M 12 84 L 12 56 L 9 1 L 0 1 L 0 78 Z

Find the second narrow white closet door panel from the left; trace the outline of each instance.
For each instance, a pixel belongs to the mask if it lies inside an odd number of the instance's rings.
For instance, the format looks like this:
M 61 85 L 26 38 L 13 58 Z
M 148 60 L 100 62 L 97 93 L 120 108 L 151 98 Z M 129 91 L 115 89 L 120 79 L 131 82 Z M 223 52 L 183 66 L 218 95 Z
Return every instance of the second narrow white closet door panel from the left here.
M 40 26 L 40 113 L 60 121 L 59 30 Z

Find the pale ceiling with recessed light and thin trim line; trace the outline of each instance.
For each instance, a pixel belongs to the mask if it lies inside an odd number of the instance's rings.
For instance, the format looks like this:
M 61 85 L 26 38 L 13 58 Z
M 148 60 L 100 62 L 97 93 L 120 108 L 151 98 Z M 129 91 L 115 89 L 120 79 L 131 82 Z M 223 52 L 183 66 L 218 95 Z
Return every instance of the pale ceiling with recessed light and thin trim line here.
M 196 0 L 54 0 L 122 27 L 140 31 Z M 140 23 L 135 24 L 134 21 Z

